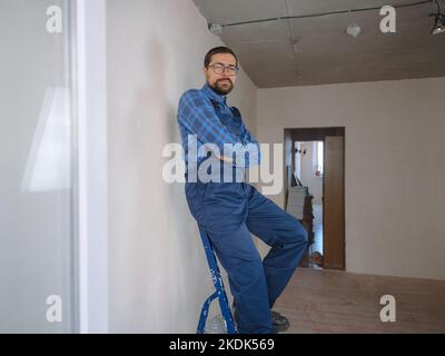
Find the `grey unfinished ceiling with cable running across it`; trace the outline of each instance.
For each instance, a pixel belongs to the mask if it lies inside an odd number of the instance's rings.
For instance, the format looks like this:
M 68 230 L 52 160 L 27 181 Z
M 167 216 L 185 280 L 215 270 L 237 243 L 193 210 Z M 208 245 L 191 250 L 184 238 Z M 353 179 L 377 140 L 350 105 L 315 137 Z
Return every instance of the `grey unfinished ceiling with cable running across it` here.
M 445 0 L 438 0 L 445 12 Z M 194 0 L 210 23 L 355 10 L 416 0 Z M 434 3 L 398 8 L 396 33 L 383 33 L 378 10 L 222 27 L 259 88 L 445 76 L 445 33 L 431 34 Z M 362 33 L 347 36 L 349 24 Z M 293 39 L 297 38 L 296 46 Z M 295 48 L 294 48 L 295 47 Z

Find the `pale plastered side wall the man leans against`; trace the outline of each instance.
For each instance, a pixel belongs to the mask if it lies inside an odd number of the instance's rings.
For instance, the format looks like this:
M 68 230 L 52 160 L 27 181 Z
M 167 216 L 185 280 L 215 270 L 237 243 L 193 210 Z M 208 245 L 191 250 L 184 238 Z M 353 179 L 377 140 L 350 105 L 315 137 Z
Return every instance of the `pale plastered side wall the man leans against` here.
M 195 333 L 209 273 L 184 185 L 162 180 L 165 145 L 180 142 L 180 95 L 204 83 L 221 44 L 191 1 L 109 0 L 110 332 Z M 256 88 L 230 96 L 255 127 Z

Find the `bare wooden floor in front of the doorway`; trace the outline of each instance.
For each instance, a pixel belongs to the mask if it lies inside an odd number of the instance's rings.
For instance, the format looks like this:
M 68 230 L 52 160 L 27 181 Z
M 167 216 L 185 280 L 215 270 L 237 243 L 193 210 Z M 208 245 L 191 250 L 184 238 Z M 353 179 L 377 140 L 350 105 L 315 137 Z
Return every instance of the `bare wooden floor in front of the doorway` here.
M 396 322 L 380 322 L 383 295 L 396 299 Z M 445 281 L 298 268 L 275 310 L 286 333 L 445 333 Z

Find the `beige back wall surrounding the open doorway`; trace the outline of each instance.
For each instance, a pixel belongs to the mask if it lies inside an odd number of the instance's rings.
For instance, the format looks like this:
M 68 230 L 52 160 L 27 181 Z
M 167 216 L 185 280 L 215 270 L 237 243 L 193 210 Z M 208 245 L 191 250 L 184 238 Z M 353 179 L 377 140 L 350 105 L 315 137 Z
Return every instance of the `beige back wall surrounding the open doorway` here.
M 346 269 L 445 279 L 445 78 L 258 90 L 261 142 L 346 128 Z M 271 197 L 283 206 L 283 195 Z

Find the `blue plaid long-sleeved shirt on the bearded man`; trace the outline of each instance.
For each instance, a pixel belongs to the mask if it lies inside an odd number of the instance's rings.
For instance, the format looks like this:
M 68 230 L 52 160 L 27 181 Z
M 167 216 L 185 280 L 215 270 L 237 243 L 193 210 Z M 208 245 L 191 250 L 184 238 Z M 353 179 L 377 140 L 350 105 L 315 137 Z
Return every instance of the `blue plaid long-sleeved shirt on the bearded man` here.
M 218 105 L 218 111 L 225 113 L 228 121 L 222 123 L 218 117 L 215 106 Z M 259 164 L 259 145 L 258 141 L 247 130 L 239 116 L 233 113 L 238 112 L 238 109 L 230 108 L 227 105 L 227 98 L 217 95 L 208 85 L 201 89 L 187 90 L 179 100 L 178 108 L 178 125 L 182 139 L 182 148 L 185 161 L 188 165 L 188 136 L 195 135 L 197 139 L 197 151 L 204 144 L 214 144 L 218 147 L 219 152 L 224 154 L 224 144 L 245 145 L 253 144 L 256 146 L 256 154 L 249 152 L 246 155 L 241 168 L 248 168 Z M 236 130 L 231 129 L 237 127 Z M 192 157 L 199 165 L 204 158 Z M 238 166 L 238 164 L 234 164 Z

